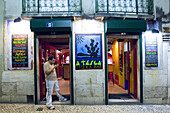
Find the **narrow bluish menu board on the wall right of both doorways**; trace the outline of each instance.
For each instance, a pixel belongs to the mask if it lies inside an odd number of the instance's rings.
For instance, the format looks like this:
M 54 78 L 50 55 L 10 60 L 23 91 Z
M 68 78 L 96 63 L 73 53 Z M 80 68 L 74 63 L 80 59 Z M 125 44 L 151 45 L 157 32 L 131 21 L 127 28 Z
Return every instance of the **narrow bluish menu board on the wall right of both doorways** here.
M 145 67 L 158 67 L 157 37 L 145 37 Z

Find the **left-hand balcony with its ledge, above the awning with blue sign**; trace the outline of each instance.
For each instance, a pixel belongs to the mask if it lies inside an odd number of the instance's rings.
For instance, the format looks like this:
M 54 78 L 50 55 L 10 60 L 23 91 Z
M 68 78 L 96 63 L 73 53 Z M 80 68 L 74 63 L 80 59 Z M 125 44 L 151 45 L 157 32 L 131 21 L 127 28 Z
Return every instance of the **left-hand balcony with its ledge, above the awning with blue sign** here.
M 22 0 L 22 16 L 76 16 L 81 4 L 81 0 Z

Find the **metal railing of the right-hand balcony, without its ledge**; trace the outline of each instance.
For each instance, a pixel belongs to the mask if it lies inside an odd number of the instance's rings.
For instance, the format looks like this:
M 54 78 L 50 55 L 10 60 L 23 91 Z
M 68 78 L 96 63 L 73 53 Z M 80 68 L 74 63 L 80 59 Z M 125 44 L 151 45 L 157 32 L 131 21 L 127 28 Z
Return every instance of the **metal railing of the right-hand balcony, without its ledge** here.
M 96 0 L 96 11 L 153 14 L 153 0 Z

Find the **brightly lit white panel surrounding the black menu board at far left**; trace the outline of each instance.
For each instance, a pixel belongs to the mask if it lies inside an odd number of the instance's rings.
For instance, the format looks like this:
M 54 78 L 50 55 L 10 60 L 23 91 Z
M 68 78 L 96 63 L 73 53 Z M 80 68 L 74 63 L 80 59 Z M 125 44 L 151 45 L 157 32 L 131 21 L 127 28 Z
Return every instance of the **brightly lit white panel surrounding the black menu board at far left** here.
M 7 65 L 8 70 L 32 70 L 34 34 L 30 30 L 30 20 L 17 24 L 7 21 Z

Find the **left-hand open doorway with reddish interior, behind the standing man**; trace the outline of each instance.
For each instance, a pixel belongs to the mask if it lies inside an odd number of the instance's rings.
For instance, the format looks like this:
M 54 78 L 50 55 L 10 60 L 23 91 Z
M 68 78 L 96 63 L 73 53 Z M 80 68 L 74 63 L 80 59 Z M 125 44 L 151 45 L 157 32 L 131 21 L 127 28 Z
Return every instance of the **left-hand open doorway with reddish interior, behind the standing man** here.
M 69 35 L 39 35 L 39 89 L 40 101 L 45 101 L 46 81 L 43 64 L 48 61 L 48 57 L 53 55 L 55 63 L 59 64 L 56 69 L 60 93 L 67 98 L 65 104 L 70 104 L 70 37 Z M 53 104 L 61 104 L 53 91 Z M 62 102 L 63 104 L 63 102 Z

